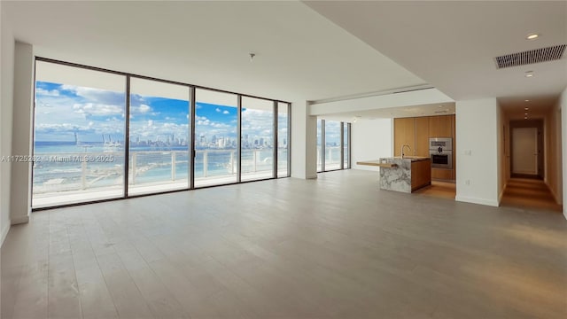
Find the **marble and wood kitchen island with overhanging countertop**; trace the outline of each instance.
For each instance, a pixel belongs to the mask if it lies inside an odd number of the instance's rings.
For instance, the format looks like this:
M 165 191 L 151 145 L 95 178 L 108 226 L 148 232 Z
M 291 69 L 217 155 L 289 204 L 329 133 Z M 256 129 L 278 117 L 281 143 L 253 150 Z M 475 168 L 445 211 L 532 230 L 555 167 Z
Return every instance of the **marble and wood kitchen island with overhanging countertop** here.
M 412 192 L 431 185 L 431 158 L 405 156 L 356 162 L 380 167 L 380 189 Z

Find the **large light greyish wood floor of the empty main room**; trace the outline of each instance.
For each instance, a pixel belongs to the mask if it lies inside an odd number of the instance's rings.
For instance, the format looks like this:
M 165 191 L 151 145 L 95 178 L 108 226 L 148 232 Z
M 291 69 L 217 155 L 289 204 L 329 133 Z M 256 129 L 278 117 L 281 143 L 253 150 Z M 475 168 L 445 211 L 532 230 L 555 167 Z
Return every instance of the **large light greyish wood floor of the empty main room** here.
M 567 221 L 367 171 L 38 212 L 2 318 L 565 318 Z

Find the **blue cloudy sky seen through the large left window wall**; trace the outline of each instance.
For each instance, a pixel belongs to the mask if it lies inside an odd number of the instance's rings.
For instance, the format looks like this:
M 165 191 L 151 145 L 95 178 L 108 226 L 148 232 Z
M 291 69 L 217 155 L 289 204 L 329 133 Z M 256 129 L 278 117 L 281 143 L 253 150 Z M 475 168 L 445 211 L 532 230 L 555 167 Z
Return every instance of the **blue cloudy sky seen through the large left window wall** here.
M 102 142 L 105 137 L 123 140 L 125 94 L 102 89 L 36 82 L 35 141 Z M 189 102 L 164 97 L 130 97 L 130 136 L 165 140 L 187 136 Z M 237 108 L 197 102 L 196 135 L 236 137 Z M 243 109 L 243 135 L 268 137 L 271 113 Z M 287 128 L 281 128 L 286 131 Z

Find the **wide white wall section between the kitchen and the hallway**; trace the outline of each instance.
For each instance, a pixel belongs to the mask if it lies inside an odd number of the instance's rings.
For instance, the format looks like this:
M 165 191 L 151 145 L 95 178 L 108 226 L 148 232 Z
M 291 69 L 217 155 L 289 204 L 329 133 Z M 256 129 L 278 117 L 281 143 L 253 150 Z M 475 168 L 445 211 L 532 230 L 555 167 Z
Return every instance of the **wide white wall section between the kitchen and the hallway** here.
M 455 200 L 499 205 L 500 108 L 496 98 L 456 102 Z

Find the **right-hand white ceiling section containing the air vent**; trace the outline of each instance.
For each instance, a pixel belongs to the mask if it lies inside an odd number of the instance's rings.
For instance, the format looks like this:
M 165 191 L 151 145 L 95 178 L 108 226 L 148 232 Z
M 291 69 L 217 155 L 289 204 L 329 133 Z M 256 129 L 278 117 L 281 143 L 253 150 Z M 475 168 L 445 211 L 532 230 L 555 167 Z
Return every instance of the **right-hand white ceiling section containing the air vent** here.
M 493 58 L 567 43 L 567 2 L 308 1 L 454 100 L 499 97 L 509 112 L 548 107 L 567 87 L 567 55 L 498 70 Z M 539 33 L 537 40 L 525 36 Z M 535 76 L 526 78 L 525 71 Z M 551 102 L 550 102 L 551 101 Z

